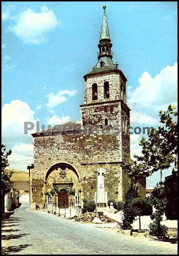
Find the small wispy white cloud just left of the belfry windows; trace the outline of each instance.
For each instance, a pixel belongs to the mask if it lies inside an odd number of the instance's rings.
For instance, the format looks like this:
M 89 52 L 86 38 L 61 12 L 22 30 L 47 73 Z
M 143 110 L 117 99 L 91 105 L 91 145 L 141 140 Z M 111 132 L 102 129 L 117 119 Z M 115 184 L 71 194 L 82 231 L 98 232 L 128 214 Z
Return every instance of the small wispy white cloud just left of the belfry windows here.
M 61 90 L 56 94 L 53 94 L 52 92 L 46 95 L 48 98 L 48 103 L 46 104 L 48 108 L 54 108 L 58 106 L 60 103 L 63 103 L 67 100 L 66 96 L 74 96 L 77 91 L 69 91 L 69 90 Z

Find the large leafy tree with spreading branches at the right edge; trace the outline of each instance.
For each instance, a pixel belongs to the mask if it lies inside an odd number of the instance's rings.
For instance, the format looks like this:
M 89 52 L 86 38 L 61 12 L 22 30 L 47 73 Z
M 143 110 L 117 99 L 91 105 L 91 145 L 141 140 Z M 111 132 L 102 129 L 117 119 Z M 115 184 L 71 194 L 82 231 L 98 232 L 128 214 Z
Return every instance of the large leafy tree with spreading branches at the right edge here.
M 152 129 L 148 132 L 148 139 L 144 138 L 139 141 L 142 146 L 142 156 L 134 155 L 137 161 L 129 161 L 124 164 L 129 177 L 150 176 L 152 173 L 161 172 L 168 169 L 170 164 L 175 160 L 175 155 L 178 151 L 178 129 L 176 107 L 169 105 L 167 111 L 160 111 L 160 123 L 158 129 Z

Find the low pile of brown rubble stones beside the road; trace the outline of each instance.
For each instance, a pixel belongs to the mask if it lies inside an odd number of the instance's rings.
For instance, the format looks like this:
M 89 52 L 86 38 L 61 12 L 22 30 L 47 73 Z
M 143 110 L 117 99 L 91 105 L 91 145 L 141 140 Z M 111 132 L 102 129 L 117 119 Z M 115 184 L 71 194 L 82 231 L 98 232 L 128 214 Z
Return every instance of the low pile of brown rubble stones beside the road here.
M 79 220 L 79 221 L 83 221 L 83 222 L 92 222 L 95 217 L 96 217 L 96 213 L 86 212 L 84 214 L 79 214 L 79 217 L 74 216 L 73 218 L 75 219 L 75 221 Z M 98 218 L 104 223 L 106 223 L 106 222 L 115 222 L 115 220 L 112 220 L 111 218 L 107 217 L 103 213 L 98 214 Z

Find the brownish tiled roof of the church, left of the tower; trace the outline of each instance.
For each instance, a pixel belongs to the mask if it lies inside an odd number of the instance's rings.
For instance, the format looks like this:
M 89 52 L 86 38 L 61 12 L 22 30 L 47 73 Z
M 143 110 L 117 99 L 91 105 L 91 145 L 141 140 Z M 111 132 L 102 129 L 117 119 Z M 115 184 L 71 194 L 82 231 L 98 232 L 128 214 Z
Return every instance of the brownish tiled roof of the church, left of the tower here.
M 64 124 L 58 124 L 58 125 L 55 125 L 54 127 L 51 127 L 51 129 L 46 129 L 46 130 L 43 130 L 43 131 L 40 131 L 40 135 L 41 134 L 44 134 L 44 135 L 47 135 L 46 133 L 48 132 L 59 132 L 59 131 L 79 131 L 81 129 L 81 124 L 80 123 L 76 123 L 74 121 L 69 121 L 69 122 L 66 122 Z M 32 136 L 33 135 L 39 135 L 39 133 L 33 133 L 31 134 Z

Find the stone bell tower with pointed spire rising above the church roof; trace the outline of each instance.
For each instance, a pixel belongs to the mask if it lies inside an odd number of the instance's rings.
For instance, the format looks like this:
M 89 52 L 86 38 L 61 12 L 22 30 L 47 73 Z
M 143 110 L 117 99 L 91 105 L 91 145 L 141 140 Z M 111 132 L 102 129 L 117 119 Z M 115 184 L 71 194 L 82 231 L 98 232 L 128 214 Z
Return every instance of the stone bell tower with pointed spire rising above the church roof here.
M 130 126 L 130 109 L 126 105 L 126 82 L 123 72 L 118 69 L 118 63 L 113 63 L 112 43 L 109 35 L 106 6 L 99 39 L 99 52 L 97 53 L 97 64 L 86 75 L 84 104 L 81 107 L 81 123 L 83 128 L 89 125 L 97 126 L 100 131 L 107 127 L 109 132 L 118 133 L 119 153 L 121 161 L 124 157 L 130 158 L 130 137 L 128 129 Z M 118 130 L 117 129 L 117 130 Z M 100 132 L 99 132 L 100 133 Z M 122 141 L 122 137 L 125 137 Z M 123 149 L 126 149 L 124 156 Z

